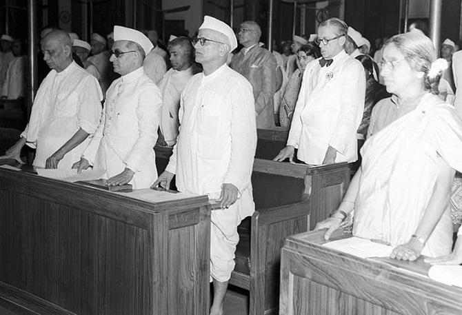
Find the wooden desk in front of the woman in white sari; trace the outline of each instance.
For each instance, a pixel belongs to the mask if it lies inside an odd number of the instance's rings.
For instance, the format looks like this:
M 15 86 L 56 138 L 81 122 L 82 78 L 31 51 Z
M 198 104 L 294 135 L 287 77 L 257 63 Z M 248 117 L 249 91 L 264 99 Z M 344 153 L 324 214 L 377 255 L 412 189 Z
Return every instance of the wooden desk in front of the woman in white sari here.
M 323 247 L 324 233 L 285 241 L 279 314 L 462 314 L 462 289 L 426 277 L 423 258 L 358 258 Z M 345 237 L 339 233 L 335 238 Z

